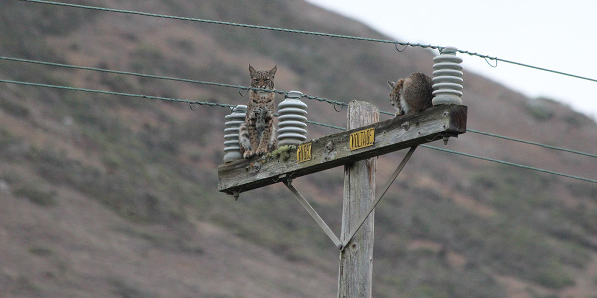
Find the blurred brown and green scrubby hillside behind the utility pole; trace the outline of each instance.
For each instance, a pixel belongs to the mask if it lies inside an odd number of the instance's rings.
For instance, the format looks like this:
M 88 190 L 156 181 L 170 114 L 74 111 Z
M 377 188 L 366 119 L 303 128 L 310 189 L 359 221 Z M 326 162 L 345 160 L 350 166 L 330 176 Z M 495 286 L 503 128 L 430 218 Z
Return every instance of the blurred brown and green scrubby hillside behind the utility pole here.
M 0 0 L 0 55 L 276 88 L 390 111 L 436 52 Z M 384 38 L 303 1 L 70 3 Z M 389 39 L 389 38 L 385 38 Z M 476 57 L 463 57 L 476 59 Z M 465 70 L 466 71 L 466 70 Z M 235 88 L 0 60 L 0 79 L 243 104 Z M 281 101 L 276 95 L 276 101 Z M 309 119 L 346 110 L 306 100 Z M 595 153 L 597 124 L 465 72 L 468 127 Z M 334 297 L 337 250 L 281 185 L 217 192 L 227 108 L 0 83 L 0 297 Z M 381 116 L 387 119 L 387 116 Z M 309 138 L 336 132 L 309 126 Z M 597 179 L 597 161 L 468 132 L 447 146 Z M 383 184 L 404 152 L 377 162 Z M 340 229 L 343 169 L 296 187 Z M 376 209 L 374 297 L 597 293 L 597 185 L 417 149 Z

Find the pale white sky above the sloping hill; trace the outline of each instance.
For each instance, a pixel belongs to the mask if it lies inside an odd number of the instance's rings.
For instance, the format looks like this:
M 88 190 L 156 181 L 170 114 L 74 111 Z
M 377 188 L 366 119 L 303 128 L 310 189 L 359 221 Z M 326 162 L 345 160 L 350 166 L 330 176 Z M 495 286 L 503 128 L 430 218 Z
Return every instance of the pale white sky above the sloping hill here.
M 592 52 L 597 49 L 597 0 L 307 1 L 398 41 L 451 45 L 597 79 L 597 57 Z M 501 61 L 492 68 L 483 58 L 459 55 L 465 72 L 472 70 L 530 98 L 561 101 L 597 119 L 597 82 Z

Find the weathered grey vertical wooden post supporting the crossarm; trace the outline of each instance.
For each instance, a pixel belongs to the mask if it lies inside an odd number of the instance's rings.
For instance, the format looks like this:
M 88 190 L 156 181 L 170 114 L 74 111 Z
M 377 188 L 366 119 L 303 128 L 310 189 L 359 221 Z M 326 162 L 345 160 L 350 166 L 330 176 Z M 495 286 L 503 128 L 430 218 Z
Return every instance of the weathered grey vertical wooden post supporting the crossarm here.
M 379 109 L 364 101 L 348 106 L 348 129 L 379 121 Z M 371 140 L 373 141 L 373 140 Z M 362 144 L 367 144 L 365 141 Z M 357 146 L 358 147 L 358 146 Z M 356 149 L 358 150 L 358 149 Z M 375 197 L 376 158 L 344 166 L 344 200 L 340 238 L 344 242 L 366 215 Z M 370 298 L 373 276 L 374 212 L 340 252 L 338 298 Z

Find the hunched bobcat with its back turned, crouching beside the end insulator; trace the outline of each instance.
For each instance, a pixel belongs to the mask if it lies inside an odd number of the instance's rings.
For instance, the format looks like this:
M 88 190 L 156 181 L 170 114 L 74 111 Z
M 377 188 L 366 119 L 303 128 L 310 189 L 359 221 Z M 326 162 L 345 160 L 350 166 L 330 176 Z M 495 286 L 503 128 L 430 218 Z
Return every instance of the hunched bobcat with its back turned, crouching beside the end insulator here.
M 414 114 L 432 106 L 433 81 L 423 73 L 411 73 L 406 79 L 396 83 L 387 81 L 390 92 L 390 104 L 396 108 L 396 116 Z

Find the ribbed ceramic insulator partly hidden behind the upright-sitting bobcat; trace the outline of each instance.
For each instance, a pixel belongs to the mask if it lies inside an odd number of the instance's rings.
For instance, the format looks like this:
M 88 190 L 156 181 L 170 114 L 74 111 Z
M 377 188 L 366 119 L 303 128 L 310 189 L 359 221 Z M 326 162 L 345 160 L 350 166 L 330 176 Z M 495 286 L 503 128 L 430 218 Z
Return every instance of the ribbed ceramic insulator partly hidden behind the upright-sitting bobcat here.
M 241 124 L 245 122 L 247 105 L 236 105 L 232 113 L 224 119 L 224 162 L 229 163 L 242 159 L 241 147 L 238 145 L 238 135 Z

